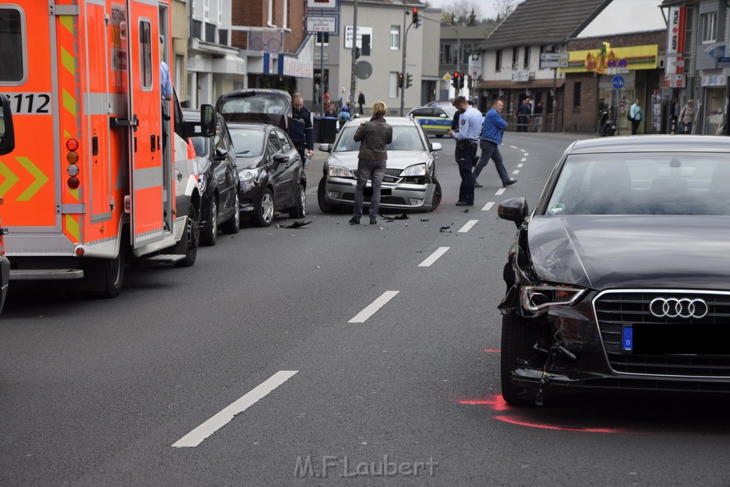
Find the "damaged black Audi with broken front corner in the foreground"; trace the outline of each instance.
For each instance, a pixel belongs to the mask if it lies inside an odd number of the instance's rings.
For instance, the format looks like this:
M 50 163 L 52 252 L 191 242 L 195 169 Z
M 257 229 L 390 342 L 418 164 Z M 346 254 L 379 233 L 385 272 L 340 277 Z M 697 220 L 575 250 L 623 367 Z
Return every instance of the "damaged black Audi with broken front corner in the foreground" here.
M 502 395 L 730 392 L 730 139 L 575 142 L 514 221 Z

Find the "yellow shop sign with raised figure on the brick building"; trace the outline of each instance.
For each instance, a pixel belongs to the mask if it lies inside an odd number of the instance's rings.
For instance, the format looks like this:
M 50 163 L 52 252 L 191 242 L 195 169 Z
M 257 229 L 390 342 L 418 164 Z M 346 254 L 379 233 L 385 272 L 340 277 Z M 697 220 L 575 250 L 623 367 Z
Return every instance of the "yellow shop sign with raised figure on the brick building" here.
M 561 73 L 594 72 L 596 74 L 622 74 L 635 69 L 656 69 L 658 45 L 611 47 L 602 42 L 601 47 L 591 50 L 569 51 L 568 67 Z

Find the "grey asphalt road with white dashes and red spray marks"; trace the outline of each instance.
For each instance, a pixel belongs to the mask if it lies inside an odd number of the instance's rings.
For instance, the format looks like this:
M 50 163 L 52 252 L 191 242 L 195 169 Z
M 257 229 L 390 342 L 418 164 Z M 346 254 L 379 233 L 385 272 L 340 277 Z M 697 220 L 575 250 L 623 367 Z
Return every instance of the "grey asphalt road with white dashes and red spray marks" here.
M 465 212 L 453 142 L 434 138 L 441 206 L 375 226 L 320 212 L 318 153 L 307 226 L 131 269 L 117 299 L 12 289 L 0 485 L 728 485 L 728 398 L 502 402 L 515 227 L 496 205 L 535 202 L 572 139 L 507 134 L 518 183 L 502 191 L 490 164 Z

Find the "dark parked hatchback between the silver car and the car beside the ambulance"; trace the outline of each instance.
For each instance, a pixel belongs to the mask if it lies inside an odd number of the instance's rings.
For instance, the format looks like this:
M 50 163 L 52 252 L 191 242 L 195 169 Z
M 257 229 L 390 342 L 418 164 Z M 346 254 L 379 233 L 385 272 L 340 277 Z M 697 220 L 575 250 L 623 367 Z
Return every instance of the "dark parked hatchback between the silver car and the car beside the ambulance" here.
M 229 123 L 239 178 L 239 210 L 258 226 L 274 212 L 302 218 L 307 206 L 304 164 L 288 134 L 263 123 Z

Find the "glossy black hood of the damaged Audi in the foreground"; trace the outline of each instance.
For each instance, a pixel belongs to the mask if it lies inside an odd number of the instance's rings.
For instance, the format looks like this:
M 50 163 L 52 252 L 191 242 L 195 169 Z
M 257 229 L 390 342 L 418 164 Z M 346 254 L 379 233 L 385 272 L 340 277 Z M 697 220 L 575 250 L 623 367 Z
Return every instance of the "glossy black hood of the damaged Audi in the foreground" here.
M 727 289 L 730 217 L 536 216 L 531 262 L 542 282 L 610 288 Z

